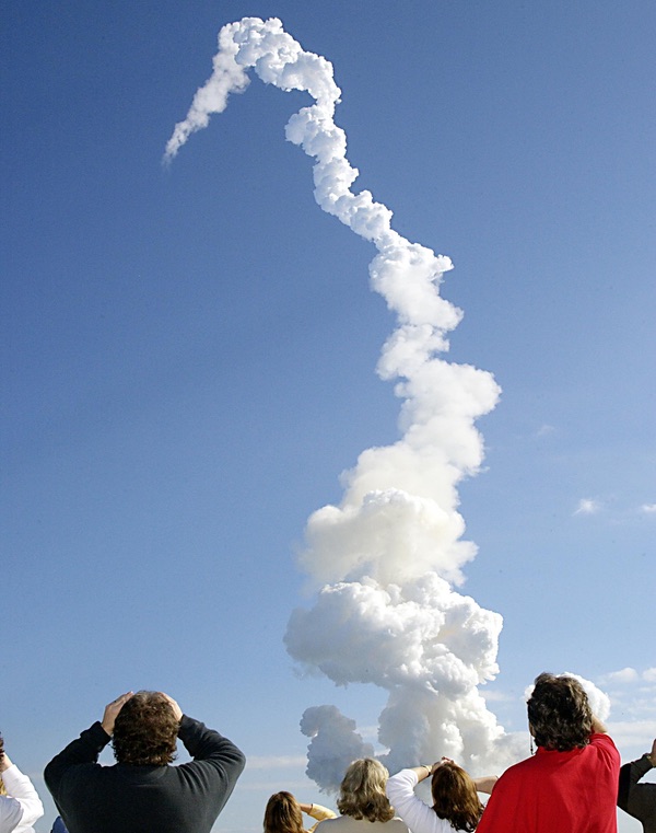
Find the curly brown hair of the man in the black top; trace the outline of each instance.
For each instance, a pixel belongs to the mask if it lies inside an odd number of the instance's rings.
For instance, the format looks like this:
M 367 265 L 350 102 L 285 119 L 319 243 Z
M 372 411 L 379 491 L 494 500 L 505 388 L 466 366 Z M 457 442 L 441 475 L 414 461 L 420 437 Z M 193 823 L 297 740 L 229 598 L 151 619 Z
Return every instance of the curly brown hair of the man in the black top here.
M 137 692 L 114 724 L 112 745 L 119 764 L 165 766 L 175 759 L 179 724 L 160 692 Z

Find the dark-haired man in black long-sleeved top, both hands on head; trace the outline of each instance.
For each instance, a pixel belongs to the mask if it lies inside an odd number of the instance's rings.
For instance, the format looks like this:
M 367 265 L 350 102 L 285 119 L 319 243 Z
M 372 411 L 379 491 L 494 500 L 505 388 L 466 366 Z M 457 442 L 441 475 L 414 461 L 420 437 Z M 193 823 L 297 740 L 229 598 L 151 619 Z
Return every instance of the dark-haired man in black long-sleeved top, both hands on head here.
M 178 737 L 194 760 L 171 766 Z M 116 764 L 102 766 L 110 740 Z M 128 692 L 50 761 L 45 780 L 69 833 L 209 833 L 244 764 L 173 697 Z

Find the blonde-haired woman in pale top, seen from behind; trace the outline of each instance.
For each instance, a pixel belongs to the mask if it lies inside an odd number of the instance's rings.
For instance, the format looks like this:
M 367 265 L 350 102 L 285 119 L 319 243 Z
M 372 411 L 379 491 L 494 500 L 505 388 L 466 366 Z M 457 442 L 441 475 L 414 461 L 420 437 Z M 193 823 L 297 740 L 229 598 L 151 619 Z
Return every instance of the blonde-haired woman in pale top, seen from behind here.
M 409 833 L 385 795 L 388 777 L 387 770 L 373 757 L 353 761 L 340 786 L 337 808 L 341 815 L 323 821 L 317 833 Z

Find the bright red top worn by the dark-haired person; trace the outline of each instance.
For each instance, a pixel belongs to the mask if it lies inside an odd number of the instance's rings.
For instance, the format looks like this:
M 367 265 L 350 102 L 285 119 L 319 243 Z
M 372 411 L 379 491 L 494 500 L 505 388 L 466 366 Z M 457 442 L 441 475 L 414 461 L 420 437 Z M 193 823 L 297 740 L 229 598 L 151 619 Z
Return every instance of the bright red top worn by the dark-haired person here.
M 570 752 L 539 747 L 496 782 L 477 833 L 617 833 L 619 772 L 608 734 Z

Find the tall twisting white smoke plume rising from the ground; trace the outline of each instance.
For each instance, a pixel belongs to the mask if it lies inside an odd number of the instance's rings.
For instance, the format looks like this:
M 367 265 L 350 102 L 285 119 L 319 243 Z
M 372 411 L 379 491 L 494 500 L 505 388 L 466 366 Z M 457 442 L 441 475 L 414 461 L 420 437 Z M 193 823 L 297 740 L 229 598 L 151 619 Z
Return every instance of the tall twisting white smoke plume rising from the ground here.
M 314 512 L 301 566 L 323 588 L 312 610 L 296 610 L 285 644 L 302 667 L 338 685 L 373 683 L 388 692 L 379 717 L 380 756 L 390 770 L 454 757 L 475 774 L 501 768 L 515 752 L 478 686 L 497 673 L 502 618 L 454 590 L 477 552 L 462 540 L 457 486 L 479 470 L 475 420 L 494 408 L 493 377 L 438 357 L 460 311 L 441 298 L 448 257 L 391 229 L 391 211 L 355 194 L 358 171 L 335 124 L 341 91 L 325 58 L 305 51 L 279 20 L 246 18 L 221 30 L 214 70 L 166 146 L 171 161 L 189 136 L 243 92 L 253 69 L 266 83 L 306 91 L 314 104 L 286 125 L 286 138 L 315 159 L 315 198 L 378 254 L 371 286 L 397 315 L 377 372 L 396 380 L 400 439 L 362 452 L 343 475 L 339 506 Z M 335 789 L 354 757 L 371 754 L 355 724 L 332 706 L 308 709 L 308 775 Z

